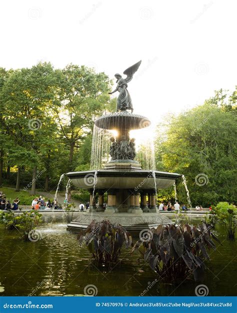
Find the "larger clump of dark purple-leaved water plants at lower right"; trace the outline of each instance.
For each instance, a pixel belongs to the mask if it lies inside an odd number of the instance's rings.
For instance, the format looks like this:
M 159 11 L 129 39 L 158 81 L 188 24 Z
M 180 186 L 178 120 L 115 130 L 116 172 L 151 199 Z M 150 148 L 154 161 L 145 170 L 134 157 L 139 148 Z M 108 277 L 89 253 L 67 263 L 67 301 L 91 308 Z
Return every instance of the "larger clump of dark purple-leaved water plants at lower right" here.
M 201 281 L 203 261 L 209 259 L 207 250 L 216 248 L 211 237 L 219 242 L 210 229 L 204 222 L 197 227 L 159 225 L 148 230 L 148 236 L 140 237 L 131 252 L 138 250 L 160 280 L 177 282 L 192 273 L 195 281 Z

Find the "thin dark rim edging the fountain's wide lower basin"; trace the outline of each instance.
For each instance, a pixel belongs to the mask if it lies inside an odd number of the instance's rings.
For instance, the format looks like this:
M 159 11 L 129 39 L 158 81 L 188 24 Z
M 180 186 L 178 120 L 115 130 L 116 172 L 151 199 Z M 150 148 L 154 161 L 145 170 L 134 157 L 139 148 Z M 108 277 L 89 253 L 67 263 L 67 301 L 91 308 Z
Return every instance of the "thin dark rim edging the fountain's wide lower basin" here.
M 155 174 L 155 178 L 166 178 L 166 179 L 176 179 L 181 177 L 178 173 L 168 173 L 160 172 L 155 170 L 130 170 L 130 171 L 119 171 L 119 170 L 89 170 L 89 171 L 78 171 L 78 172 L 68 172 L 65 175 L 69 178 L 82 178 L 87 174 L 93 174 L 97 177 L 147 177 L 148 174 Z

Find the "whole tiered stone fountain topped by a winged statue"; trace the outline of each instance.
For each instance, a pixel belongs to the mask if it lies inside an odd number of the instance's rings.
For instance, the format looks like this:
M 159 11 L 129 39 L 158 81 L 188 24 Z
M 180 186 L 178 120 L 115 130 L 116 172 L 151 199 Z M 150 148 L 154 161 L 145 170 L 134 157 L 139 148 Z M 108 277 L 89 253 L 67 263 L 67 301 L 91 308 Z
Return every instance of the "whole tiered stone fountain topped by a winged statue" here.
M 123 72 L 127 75 L 125 79 L 120 74 L 115 74 L 117 88 L 113 92 L 119 92 L 117 110 L 94 121 L 91 170 L 66 174 L 72 184 L 90 192 L 87 212 L 69 223 L 69 230 L 83 229 L 92 220 L 103 219 L 109 219 L 114 224 L 119 223 L 129 231 L 139 231 L 170 222 L 168 217 L 159 213 L 156 208 L 156 192 L 172 186 L 175 179 L 181 175 L 159 172 L 153 168 L 142 169 L 136 156 L 135 139 L 130 138 L 129 134 L 131 130 L 143 129 L 150 125 L 146 117 L 133 113 L 127 91 L 127 83 L 140 63 Z M 150 155 L 150 152 L 147 152 L 147 155 Z M 153 163 L 147 161 L 144 164 Z M 105 193 L 106 208 L 103 207 Z

